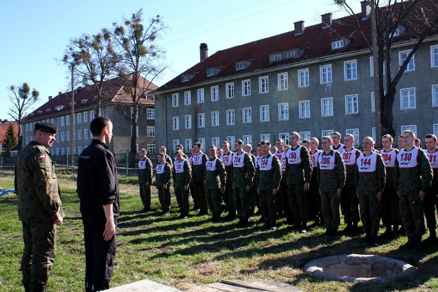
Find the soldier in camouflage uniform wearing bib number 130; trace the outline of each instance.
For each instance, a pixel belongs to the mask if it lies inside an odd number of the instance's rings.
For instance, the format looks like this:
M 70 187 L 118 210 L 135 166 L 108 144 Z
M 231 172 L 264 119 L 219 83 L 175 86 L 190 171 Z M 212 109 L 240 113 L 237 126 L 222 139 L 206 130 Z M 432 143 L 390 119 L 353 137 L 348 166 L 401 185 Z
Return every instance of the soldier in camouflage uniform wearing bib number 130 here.
M 426 232 L 423 199 L 432 182 L 432 168 L 426 153 L 414 147 L 414 140 L 414 132 L 403 132 L 405 148 L 397 154 L 394 185 L 400 196 L 401 222 L 408 235 L 408 242 L 400 248 L 422 250 L 422 236 Z

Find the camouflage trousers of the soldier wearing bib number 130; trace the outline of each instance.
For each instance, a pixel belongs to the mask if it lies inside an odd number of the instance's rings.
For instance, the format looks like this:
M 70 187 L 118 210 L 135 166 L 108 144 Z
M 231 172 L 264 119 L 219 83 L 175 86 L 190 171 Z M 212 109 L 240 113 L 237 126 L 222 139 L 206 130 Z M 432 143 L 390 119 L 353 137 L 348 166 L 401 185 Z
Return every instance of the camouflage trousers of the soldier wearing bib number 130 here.
M 399 209 L 401 222 L 408 236 L 422 236 L 426 233 L 423 201 L 419 198 L 418 192 L 400 192 Z

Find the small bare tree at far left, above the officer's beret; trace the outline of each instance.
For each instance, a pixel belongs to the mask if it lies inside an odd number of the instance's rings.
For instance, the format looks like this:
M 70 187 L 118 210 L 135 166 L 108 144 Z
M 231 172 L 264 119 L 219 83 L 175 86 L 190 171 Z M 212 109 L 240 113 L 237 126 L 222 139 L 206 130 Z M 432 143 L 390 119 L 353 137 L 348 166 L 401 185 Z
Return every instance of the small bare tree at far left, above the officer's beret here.
M 9 115 L 17 122 L 18 130 L 18 148 L 19 150 L 23 147 L 23 133 L 21 129 L 21 124 L 23 123 L 23 118 L 26 116 L 27 111 L 30 107 L 38 101 L 40 93 L 33 88 L 30 91 L 29 85 L 24 82 L 21 87 L 15 87 L 11 85 L 9 90 L 12 94 L 9 96 L 9 100 L 12 102 L 12 107 L 9 108 Z

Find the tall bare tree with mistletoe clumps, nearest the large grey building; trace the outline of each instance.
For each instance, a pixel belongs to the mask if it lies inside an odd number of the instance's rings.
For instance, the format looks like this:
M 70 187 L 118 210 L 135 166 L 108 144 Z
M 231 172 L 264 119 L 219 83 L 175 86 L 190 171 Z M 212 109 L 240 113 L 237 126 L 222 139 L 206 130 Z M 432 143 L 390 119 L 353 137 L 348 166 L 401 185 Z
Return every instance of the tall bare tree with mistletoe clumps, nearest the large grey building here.
M 136 126 L 138 103 L 154 89 L 153 81 L 167 68 L 163 64 L 165 51 L 155 45 L 160 32 L 166 29 L 160 16 L 150 19 L 143 26 L 142 10 L 132 14 L 131 20 L 123 19 L 123 24 L 114 23 L 111 32 L 117 50 L 120 52 L 117 69 L 122 78 L 123 90 L 132 98 L 134 113 L 132 117 L 131 154 L 136 153 Z

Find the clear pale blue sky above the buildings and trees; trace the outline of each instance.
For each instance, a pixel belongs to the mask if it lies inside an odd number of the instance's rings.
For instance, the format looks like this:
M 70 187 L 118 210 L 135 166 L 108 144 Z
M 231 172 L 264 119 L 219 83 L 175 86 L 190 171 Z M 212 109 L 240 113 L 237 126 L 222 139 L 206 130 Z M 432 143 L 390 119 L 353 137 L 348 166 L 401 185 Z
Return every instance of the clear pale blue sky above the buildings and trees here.
M 166 50 L 169 64 L 160 86 L 199 62 L 199 44 L 207 43 L 208 54 L 268 36 L 321 22 L 321 14 L 333 19 L 347 15 L 333 0 L 0 0 L 0 119 L 9 119 L 9 87 L 27 82 L 40 92 L 33 109 L 71 88 L 71 71 L 58 60 L 69 40 L 83 33 L 95 34 L 112 28 L 133 12 L 143 9 L 143 18 L 161 16 L 168 27 L 157 45 Z M 360 12 L 359 0 L 351 0 Z

